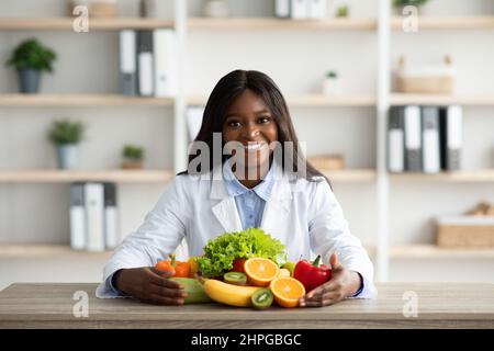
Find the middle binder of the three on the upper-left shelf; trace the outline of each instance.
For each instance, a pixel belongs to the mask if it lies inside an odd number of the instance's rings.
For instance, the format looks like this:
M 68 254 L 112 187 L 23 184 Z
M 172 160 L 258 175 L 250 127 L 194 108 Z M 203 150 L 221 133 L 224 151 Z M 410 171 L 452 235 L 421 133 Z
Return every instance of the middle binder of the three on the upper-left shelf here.
M 154 94 L 153 31 L 138 31 L 137 41 L 138 92 L 143 97 Z

